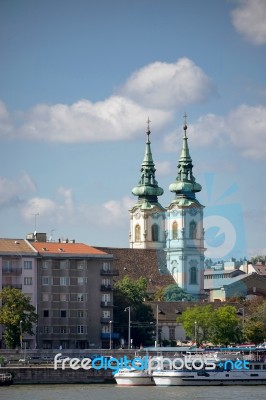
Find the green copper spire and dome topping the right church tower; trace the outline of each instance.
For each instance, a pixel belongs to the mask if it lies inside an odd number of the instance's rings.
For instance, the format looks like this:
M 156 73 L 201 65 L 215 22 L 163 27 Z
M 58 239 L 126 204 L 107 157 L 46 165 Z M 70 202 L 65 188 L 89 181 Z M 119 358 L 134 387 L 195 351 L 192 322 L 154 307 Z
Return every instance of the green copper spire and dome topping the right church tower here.
M 185 115 L 186 118 L 186 115 Z M 184 196 L 195 199 L 195 193 L 201 191 L 201 185 L 196 182 L 192 170 L 193 164 L 189 154 L 187 143 L 187 125 L 184 123 L 184 136 L 181 155 L 178 163 L 178 175 L 175 182 L 169 186 L 170 192 L 174 192 L 176 197 Z

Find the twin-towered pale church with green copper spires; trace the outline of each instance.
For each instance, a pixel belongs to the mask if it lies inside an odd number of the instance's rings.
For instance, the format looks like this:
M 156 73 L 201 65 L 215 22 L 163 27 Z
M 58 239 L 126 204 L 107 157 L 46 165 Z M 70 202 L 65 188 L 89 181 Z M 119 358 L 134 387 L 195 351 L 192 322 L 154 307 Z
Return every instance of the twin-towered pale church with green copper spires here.
M 201 297 L 204 294 L 204 206 L 196 199 L 196 193 L 202 188 L 193 175 L 186 115 L 177 177 L 169 186 L 174 198 L 166 206 L 158 200 L 164 190 L 155 177 L 149 122 L 140 180 L 132 189 L 137 202 L 129 210 L 130 248 L 164 251 L 167 271 L 174 281 L 187 293 Z

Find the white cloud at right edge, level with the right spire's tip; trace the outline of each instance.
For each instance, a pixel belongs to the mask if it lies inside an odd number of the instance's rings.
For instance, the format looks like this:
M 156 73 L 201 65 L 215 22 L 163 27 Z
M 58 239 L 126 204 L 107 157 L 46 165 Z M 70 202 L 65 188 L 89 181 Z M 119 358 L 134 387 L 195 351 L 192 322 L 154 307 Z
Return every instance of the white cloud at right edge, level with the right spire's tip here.
M 244 157 L 265 158 L 266 107 L 242 104 L 226 116 L 207 114 L 188 126 L 191 146 L 233 146 Z M 177 135 L 170 133 L 164 145 L 168 151 L 177 150 Z

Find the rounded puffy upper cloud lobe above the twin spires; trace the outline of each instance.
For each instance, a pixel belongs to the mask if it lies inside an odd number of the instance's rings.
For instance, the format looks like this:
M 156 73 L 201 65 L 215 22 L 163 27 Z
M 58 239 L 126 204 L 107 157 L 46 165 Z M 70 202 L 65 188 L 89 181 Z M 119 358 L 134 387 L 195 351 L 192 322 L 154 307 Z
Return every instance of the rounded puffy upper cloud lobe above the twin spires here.
M 123 95 L 144 107 L 179 108 L 206 101 L 213 94 L 210 78 L 188 58 L 155 62 L 136 71 L 121 88 Z

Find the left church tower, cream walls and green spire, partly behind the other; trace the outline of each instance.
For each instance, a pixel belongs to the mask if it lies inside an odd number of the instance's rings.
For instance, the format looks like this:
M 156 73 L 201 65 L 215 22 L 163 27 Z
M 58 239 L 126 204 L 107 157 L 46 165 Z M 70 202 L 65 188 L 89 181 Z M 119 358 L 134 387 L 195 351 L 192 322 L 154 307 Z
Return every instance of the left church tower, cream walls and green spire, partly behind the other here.
M 163 189 L 155 179 L 155 166 L 151 153 L 150 120 L 148 119 L 147 140 L 144 160 L 141 164 L 141 178 L 132 189 L 138 202 L 129 210 L 129 243 L 133 249 L 164 249 L 165 247 L 165 209 L 158 202 Z

